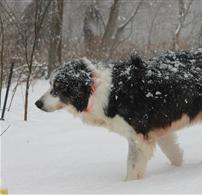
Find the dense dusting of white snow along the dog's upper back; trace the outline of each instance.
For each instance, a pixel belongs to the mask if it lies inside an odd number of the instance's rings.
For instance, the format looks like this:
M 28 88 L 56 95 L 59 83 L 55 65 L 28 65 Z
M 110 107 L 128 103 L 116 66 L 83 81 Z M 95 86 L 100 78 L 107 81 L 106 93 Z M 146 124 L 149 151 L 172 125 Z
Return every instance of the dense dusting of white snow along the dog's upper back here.
M 184 80 L 189 78 L 190 81 L 201 83 L 202 48 L 193 49 L 190 52 L 179 50 L 178 52 L 163 51 L 160 56 L 153 57 L 144 61 L 147 67 L 148 78 L 155 76 L 158 78 L 169 79 L 173 77 L 176 80 Z

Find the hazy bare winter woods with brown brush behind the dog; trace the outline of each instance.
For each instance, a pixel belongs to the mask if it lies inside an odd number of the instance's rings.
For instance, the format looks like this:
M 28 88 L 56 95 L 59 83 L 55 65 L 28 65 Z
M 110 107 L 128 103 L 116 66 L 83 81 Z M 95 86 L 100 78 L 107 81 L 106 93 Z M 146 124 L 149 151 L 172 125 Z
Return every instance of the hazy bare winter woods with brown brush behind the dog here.
M 109 61 L 198 47 L 201 10 L 200 0 L 2 0 L 0 94 L 14 61 L 17 86 L 26 83 L 27 120 L 33 79 L 47 79 L 65 60 L 82 56 Z

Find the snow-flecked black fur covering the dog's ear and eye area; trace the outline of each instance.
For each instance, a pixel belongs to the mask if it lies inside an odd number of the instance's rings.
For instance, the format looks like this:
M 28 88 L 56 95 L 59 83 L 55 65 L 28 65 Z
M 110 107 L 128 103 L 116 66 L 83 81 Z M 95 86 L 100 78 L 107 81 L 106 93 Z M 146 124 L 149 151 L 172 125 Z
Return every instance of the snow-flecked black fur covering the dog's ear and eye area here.
M 75 60 L 59 67 L 56 72 L 51 94 L 59 96 L 65 104 L 72 104 L 77 111 L 84 111 L 93 84 L 91 71 L 86 64 Z

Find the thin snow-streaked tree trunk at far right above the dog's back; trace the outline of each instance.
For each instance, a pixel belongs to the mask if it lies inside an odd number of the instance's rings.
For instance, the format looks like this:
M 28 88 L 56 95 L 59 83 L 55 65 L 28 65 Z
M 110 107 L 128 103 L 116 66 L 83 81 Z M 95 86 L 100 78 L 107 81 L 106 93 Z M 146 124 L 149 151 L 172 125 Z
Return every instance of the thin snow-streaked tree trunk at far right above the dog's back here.
M 185 0 L 178 0 L 178 6 L 179 6 L 178 25 L 174 32 L 173 49 L 179 48 L 180 34 L 182 29 L 184 28 L 186 17 L 189 14 L 193 2 L 194 0 L 189 0 L 187 3 L 185 2 Z

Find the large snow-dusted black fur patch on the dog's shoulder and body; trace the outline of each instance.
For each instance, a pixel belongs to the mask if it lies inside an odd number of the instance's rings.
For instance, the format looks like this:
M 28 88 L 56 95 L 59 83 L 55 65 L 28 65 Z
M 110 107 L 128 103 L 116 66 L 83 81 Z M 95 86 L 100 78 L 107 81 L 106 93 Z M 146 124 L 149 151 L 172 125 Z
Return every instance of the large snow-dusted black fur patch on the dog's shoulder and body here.
M 105 114 L 120 115 L 137 133 L 166 128 L 202 111 L 202 48 L 114 64 Z

